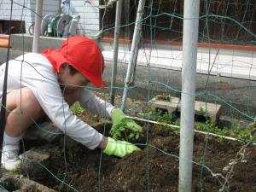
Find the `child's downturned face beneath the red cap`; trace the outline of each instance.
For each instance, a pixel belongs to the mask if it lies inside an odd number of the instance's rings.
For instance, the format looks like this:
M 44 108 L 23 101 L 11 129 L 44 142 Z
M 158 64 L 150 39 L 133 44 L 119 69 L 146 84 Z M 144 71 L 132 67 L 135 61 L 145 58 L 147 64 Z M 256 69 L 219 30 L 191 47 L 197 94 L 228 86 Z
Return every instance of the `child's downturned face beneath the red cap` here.
M 62 68 L 58 76 L 61 86 L 66 86 L 68 90 L 76 90 L 89 83 L 89 80 L 86 79 L 84 75 L 81 73 L 72 74 L 67 67 Z

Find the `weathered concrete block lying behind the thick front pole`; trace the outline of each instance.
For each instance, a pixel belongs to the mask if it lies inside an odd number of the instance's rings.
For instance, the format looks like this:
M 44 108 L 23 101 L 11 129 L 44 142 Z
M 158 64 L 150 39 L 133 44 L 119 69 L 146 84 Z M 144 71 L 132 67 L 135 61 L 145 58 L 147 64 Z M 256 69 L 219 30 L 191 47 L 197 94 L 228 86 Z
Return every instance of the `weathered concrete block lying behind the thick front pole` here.
M 171 117 L 173 112 L 181 109 L 180 99 L 174 96 L 155 96 L 150 103 L 152 110 L 166 109 Z M 207 116 L 212 121 L 218 121 L 220 108 L 221 105 L 215 103 L 195 101 L 195 114 Z

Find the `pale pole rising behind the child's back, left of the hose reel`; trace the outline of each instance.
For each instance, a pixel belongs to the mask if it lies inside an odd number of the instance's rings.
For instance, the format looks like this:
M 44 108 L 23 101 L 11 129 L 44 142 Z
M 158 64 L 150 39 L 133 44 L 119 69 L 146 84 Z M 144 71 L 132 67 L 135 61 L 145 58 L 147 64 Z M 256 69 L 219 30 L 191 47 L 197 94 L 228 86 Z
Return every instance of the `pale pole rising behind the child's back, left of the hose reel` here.
M 42 21 L 42 13 L 43 13 L 43 0 L 37 0 L 37 9 L 35 15 L 35 26 L 34 26 L 34 37 L 32 44 L 32 52 L 38 53 L 38 42 L 40 38 L 41 31 L 41 21 Z

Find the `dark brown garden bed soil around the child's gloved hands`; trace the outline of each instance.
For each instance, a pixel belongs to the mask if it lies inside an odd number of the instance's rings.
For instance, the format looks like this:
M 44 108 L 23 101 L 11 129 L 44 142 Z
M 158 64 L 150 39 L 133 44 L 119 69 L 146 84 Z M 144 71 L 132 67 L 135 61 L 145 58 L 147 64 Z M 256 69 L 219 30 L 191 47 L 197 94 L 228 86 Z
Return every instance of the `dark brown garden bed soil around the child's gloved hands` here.
M 94 127 L 98 131 L 108 133 L 111 125 L 99 124 Z M 90 150 L 66 137 L 66 172 L 64 139 L 61 139 L 61 143 L 43 146 L 43 148 L 51 148 L 49 171 L 60 179 L 65 177 L 65 183 L 76 190 L 61 184 L 49 173 L 48 177 L 44 178 L 30 177 L 50 189 L 65 192 L 178 191 L 179 136 L 159 126 L 143 125 L 143 127 L 145 128 L 144 136 L 147 135 L 148 130 L 150 146 L 148 148 L 140 146 L 141 151 L 127 155 L 123 159 L 102 154 L 100 149 Z M 244 143 L 219 141 L 215 137 L 206 140 L 202 135 L 195 135 L 194 141 L 194 161 L 200 164 L 204 162 L 212 173 L 206 167 L 194 164 L 193 191 L 219 191 L 222 188 L 220 182 L 224 183 L 224 177 L 228 176 L 228 173 L 223 171 L 224 167 L 236 158 L 237 152 Z M 146 143 L 146 138 L 137 143 Z M 203 158 L 204 149 L 206 150 L 205 158 Z M 248 145 L 243 159 L 237 160 L 234 165 L 228 183 L 225 185 L 226 189 L 223 191 L 256 191 L 255 162 L 256 147 Z

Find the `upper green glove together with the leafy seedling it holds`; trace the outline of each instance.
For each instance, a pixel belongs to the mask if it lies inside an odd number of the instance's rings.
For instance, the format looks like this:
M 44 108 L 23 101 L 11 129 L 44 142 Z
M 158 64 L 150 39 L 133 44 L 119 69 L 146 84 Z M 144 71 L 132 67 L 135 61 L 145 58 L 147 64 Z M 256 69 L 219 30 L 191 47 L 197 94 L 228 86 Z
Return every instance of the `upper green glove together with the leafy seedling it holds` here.
M 113 126 L 110 134 L 114 139 L 125 138 L 128 141 L 133 137 L 138 139 L 142 134 L 143 128 L 137 125 L 134 120 L 127 118 L 120 108 L 113 109 L 111 118 L 113 120 Z

